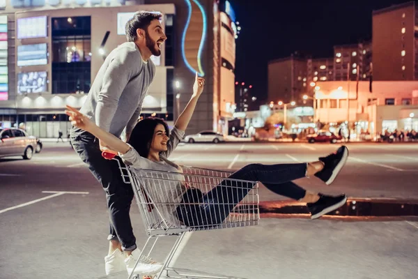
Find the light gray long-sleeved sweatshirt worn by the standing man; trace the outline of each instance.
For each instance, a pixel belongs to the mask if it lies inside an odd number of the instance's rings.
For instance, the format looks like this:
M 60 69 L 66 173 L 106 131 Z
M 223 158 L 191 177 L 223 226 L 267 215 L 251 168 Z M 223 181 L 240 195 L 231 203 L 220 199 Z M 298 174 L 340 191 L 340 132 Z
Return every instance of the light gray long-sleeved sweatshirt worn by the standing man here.
M 125 127 L 130 133 L 154 77 L 153 61 L 144 61 L 135 43 L 123 43 L 104 60 L 80 112 L 116 137 Z

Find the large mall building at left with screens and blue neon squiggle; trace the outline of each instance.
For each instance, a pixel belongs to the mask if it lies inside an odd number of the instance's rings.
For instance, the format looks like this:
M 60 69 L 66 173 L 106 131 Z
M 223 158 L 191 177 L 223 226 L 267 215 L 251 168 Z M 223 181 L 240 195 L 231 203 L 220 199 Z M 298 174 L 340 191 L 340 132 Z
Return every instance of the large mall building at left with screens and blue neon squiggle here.
M 151 3 L 152 2 L 152 3 Z M 7 0 L 0 17 L 0 127 L 38 137 L 70 128 L 65 104 L 81 107 L 106 54 L 126 41 L 137 10 L 164 14 L 162 55 L 141 116 L 173 124 L 190 96 L 194 74 L 206 77 L 187 133 L 224 132 L 232 118 L 235 14 L 228 1 Z

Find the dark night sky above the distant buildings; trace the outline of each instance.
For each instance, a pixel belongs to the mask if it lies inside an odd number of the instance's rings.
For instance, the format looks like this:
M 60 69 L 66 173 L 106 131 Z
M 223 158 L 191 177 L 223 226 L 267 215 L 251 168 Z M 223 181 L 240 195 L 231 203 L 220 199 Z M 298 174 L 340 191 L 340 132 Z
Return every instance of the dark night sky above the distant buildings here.
M 267 98 L 268 61 L 300 54 L 334 56 L 334 45 L 371 40 L 371 13 L 405 0 L 229 0 L 242 28 L 235 78 Z

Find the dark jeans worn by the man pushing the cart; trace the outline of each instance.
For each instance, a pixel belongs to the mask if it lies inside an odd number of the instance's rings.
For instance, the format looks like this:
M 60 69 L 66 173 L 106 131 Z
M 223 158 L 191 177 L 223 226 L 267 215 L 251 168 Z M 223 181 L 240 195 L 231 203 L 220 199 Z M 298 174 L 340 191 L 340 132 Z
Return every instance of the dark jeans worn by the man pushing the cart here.
M 123 250 L 134 250 L 137 248 L 136 239 L 129 216 L 134 197 L 131 184 L 123 182 L 121 170 L 116 160 L 102 158 L 99 140 L 93 135 L 75 128 L 71 131 L 70 140 L 74 150 L 88 165 L 91 173 L 102 184 L 106 193 L 110 217 L 108 240 L 120 241 Z M 121 159 L 118 160 L 124 166 Z

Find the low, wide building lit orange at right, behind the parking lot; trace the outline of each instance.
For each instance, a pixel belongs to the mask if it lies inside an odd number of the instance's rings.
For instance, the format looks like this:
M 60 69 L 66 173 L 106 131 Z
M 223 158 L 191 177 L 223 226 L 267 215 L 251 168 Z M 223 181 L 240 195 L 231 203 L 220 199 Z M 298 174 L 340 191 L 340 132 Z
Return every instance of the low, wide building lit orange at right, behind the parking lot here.
M 356 82 L 318 82 L 317 86 L 317 121 L 330 125 L 348 121 L 357 134 L 362 129 L 371 135 L 385 129 L 418 130 L 418 82 L 373 82 L 373 93 L 366 81 L 359 82 L 357 93 Z

